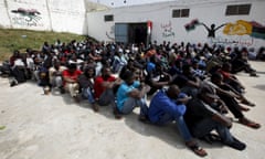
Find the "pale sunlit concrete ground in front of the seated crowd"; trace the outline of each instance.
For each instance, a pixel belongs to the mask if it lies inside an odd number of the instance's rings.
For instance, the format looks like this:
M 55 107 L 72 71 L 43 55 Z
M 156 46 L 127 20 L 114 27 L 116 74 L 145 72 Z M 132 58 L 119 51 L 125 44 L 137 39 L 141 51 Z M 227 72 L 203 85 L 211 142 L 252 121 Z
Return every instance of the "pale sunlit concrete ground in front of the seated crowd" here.
M 265 159 L 265 63 L 252 65 L 259 77 L 237 76 L 246 86 L 246 96 L 256 103 L 245 115 L 262 128 L 233 124 L 232 134 L 247 144 L 244 151 L 200 141 L 206 159 Z M 117 120 L 110 107 L 94 113 L 85 100 L 75 104 L 67 94 L 56 92 L 43 95 L 31 82 L 9 87 L 8 80 L 0 78 L 0 87 L 1 159 L 200 158 L 187 149 L 173 125 L 138 121 L 139 109 Z

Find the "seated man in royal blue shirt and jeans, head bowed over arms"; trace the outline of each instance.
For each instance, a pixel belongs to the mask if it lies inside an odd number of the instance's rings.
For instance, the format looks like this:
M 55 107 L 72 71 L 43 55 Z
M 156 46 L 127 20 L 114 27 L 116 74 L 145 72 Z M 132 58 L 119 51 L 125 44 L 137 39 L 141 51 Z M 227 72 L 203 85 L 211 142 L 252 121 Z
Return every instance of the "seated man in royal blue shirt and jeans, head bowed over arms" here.
M 190 99 L 186 94 L 180 93 L 177 85 L 170 85 L 168 89 L 160 89 L 151 99 L 148 109 L 148 117 L 152 124 L 165 125 L 176 121 L 180 135 L 186 145 L 199 156 L 206 156 L 206 152 L 199 147 L 197 141 L 190 135 L 190 131 L 183 119 L 186 105 Z

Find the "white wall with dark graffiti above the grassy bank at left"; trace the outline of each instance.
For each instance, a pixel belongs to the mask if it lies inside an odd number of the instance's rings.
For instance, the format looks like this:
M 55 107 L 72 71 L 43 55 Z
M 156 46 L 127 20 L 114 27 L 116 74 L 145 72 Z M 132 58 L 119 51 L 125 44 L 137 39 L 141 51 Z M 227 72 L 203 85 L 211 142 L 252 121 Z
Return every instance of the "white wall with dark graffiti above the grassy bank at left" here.
M 0 26 L 87 33 L 84 0 L 0 0 Z

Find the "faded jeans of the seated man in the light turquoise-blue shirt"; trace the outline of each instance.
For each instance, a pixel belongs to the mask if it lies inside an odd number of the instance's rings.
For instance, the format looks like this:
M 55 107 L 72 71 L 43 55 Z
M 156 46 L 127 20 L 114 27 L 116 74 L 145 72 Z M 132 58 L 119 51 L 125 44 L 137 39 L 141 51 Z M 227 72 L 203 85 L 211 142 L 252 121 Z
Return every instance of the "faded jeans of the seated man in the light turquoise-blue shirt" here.
M 123 114 L 130 114 L 136 106 L 140 107 L 140 115 L 147 115 L 148 107 L 146 104 L 145 98 L 136 99 L 132 97 L 129 97 L 123 105 L 121 109 L 119 109 Z

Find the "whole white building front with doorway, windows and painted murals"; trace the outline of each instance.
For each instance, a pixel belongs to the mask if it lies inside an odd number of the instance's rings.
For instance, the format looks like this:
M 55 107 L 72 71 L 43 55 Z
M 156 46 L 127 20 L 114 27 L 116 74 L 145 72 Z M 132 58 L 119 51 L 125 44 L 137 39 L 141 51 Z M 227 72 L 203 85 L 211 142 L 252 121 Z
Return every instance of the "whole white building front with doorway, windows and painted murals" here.
M 179 0 L 88 12 L 99 41 L 265 45 L 265 0 Z

